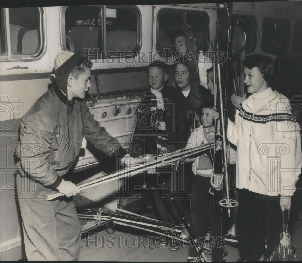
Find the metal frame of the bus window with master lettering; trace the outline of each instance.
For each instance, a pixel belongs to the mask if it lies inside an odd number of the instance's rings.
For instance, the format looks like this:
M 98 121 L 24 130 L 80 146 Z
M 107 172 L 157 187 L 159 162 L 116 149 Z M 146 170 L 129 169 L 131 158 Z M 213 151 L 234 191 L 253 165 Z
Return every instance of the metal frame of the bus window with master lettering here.
M 67 46 L 66 46 L 66 31 L 65 31 L 65 11 L 66 9 L 68 8 L 69 6 L 63 6 L 60 10 L 60 15 L 59 15 L 59 18 L 60 18 L 60 25 L 61 25 L 61 28 L 60 28 L 60 31 L 61 31 L 61 48 L 62 50 L 68 50 L 67 49 Z M 134 50 L 129 50 L 125 53 L 129 53 L 127 56 L 121 56 L 121 55 L 117 55 L 117 56 L 113 56 L 111 55 L 110 57 L 107 56 L 107 52 L 108 50 L 105 50 L 105 53 L 104 53 L 104 56 L 102 56 L 102 54 L 98 53 L 97 57 L 95 58 L 96 60 L 98 59 L 108 59 L 108 58 L 125 58 L 125 57 L 133 57 L 131 54 L 135 54 L 135 57 L 138 55 L 138 53 L 140 52 L 141 50 L 141 47 L 142 47 L 142 14 L 140 12 L 140 9 L 136 6 L 136 5 L 132 5 L 132 6 L 124 6 L 124 5 L 85 5 L 85 7 L 99 7 L 99 8 L 103 8 L 103 14 L 106 14 L 106 11 L 104 11 L 104 9 L 117 9 L 117 8 L 121 8 L 121 9 L 133 9 L 134 12 L 136 13 L 137 15 L 137 37 L 136 37 L 136 44 L 135 44 L 135 49 Z M 102 18 L 103 19 L 103 18 Z M 103 33 L 103 41 L 106 39 L 107 41 L 107 38 L 106 38 L 106 24 L 102 23 L 102 26 L 101 26 L 101 30 L 102 30 L 102 33 Z M 104 41 L 102 44 L 102 46 L 104 47 L 105 46 L 105 42 Z M 106 47 L 107 49 L 107 47 Z M 118 51 L 116 51 L 118 52 Z M 81 53 L 82 55 L 84 53 Z M 90 54 L 89 53 L 89 57 L 92 57 L 93 54 Z

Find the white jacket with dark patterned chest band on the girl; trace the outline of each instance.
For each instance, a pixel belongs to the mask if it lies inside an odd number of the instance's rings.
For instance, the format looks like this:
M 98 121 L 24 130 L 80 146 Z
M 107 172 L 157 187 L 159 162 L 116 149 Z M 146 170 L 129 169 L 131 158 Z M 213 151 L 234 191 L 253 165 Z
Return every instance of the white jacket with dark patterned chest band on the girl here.
M 300 126 L 289 100 L 271 88 L 253 93 L 228 122 L 237 145 L 236 187 L 269 196 L 293 195 L 301 172 Z

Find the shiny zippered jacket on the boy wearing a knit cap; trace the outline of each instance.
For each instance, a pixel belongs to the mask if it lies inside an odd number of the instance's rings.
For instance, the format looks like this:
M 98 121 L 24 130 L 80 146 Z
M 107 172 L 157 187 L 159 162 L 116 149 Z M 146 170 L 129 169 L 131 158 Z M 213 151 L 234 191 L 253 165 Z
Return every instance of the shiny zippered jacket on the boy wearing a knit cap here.
M 67 106 L 66 96 L 53 84 L 21 121 L 17 167 L 43 186 L 55 189 L 76 161 L 84 136 L 109 156 L 127 154 L 93 118 L 84 99 L 74 99 Z

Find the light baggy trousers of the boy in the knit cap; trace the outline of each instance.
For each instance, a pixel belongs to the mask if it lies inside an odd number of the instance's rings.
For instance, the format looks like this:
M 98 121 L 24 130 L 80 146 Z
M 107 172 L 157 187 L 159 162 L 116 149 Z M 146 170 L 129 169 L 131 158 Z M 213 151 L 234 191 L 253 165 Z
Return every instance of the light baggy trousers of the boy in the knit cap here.
M 51 189 L 19 174 L 16 182 L 28 261 L 77 261 L 81 223 L 72 198 L 47 201 Z

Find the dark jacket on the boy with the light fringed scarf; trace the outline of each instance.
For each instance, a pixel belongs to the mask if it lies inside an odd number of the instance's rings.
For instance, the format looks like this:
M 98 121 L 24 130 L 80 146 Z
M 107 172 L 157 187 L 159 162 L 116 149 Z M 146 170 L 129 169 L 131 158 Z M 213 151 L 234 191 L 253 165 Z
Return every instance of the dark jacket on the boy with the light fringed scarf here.
M 137 123 L 134 129 L 133 156 L 156 154 L 157 149 L 167 148 L 168 152 L 181 149 L 189 138 L 188 121 L 182 103 L 182 93 L 172 86 L 165 85 L 162 90 L 164 110 L 156 109 L 157 99 L 151 91 L 143 96 L 137 109 Z M 166 130 L 152 123 L 152 114 L 156 112 L 157 122 L 164 121 Z

